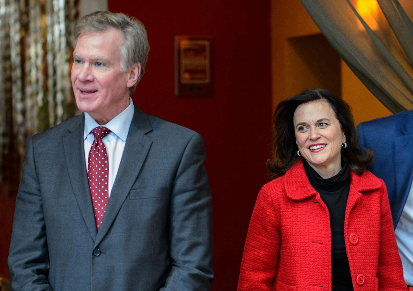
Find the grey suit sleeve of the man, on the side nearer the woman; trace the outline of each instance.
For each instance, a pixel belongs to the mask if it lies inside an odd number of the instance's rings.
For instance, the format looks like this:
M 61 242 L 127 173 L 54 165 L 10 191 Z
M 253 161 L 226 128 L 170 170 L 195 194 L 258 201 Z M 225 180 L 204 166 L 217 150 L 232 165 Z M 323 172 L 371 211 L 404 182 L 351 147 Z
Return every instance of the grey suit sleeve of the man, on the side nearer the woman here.
M 169 206 L 171 272 L 161 291 L 209 291 L 214 277 L 212 198 L 202 137 L 187 144 Z

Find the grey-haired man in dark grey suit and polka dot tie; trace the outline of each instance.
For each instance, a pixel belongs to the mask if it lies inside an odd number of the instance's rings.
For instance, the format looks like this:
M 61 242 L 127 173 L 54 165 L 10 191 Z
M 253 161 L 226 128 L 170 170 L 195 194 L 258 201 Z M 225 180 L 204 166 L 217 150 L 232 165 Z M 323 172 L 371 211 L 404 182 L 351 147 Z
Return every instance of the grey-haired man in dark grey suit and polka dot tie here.
M 84 113 L 27 141 L 8 260 L 14 291 L 210 290 L 203 141 L 133 105 L 148 51 L 137 19 L 79 20 L 71 80 Z

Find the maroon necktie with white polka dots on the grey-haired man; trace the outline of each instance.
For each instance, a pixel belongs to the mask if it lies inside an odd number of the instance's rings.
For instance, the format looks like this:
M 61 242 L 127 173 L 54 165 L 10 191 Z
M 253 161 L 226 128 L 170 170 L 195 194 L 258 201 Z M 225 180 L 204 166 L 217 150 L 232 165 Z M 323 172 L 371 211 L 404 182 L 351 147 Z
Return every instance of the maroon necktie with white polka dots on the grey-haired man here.
M 109 132 L 110 130 L 104 126 L 97 126 L 92 129 L 95 140 L 89 151 L 88 180 L 97 230 L 102 224 L 107 202 L 109 201 L 109 163 L 106 148 L 102 142 L 102 138 L 107 136 Z

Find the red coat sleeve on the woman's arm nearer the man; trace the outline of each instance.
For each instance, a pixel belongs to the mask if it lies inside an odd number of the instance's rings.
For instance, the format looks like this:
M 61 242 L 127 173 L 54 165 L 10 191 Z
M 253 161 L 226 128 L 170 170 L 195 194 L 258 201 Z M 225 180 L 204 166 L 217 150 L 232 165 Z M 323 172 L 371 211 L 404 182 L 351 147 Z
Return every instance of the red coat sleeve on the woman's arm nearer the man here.
M 280 252 L 278 204 L 261 189 L 249 222 L 237 291 L 271 291 Z

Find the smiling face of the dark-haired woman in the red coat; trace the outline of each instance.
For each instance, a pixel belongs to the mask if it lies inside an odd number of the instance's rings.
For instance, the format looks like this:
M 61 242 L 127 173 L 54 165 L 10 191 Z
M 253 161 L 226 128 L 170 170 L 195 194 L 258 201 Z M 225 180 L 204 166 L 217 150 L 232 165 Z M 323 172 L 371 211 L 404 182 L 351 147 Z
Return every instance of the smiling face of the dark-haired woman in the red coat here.
M 341 169 L 341 144 L 346 137 L 330 104 L 326 100 L 303 103 L 295 110 L 293 122 L 295 141 L 303 158 L 318 174 L 337 174 Z

